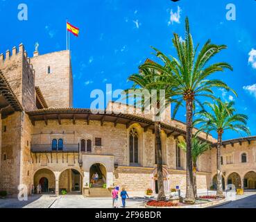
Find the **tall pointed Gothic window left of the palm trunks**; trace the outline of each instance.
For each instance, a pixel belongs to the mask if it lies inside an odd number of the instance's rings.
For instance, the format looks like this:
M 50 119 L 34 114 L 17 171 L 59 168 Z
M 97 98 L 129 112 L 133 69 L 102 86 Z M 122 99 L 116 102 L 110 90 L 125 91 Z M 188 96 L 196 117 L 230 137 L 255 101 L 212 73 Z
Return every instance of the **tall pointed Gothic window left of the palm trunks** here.
M 139 135 L 135 128 L 130 130 L 130 163 L 139 162 Z

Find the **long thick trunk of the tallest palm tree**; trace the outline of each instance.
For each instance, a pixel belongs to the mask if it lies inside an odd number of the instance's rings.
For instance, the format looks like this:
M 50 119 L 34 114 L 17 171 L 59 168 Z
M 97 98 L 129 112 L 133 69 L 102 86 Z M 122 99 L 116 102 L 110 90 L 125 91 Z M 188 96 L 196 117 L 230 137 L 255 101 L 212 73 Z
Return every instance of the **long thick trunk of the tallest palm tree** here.
M 185 203 L 195 203 L 193 191 L 193 167 L 192 167 L 192 129 L 193 129 L 193 101 L 192 99 L 186 100 L 186 114 L 187 114 L 187 171 L 186 171 L 186 197 Z

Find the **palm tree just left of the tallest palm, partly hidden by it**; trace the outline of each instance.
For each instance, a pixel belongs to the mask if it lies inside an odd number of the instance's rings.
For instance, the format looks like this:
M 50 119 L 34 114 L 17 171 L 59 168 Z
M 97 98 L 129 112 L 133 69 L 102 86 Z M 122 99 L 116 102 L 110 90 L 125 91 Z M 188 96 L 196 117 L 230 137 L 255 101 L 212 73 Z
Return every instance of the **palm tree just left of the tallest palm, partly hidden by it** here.
M 151 60 L 147 60 L 149 62 L 153 62 Z M 151 104 L 151 108 L 157 108 L 160 109 L 160 102 L 163 98 L 160 98 L 160 90 L 161 89 L 167 89 L 170 87 L 170 84 L 161 84 L 164 77 L 160 74 L 157 74 L 157 72 L 154 69 L 148 69 L 148 68 L 140 68 L 139 74 L 133 74 L 131 75 L 128 80 L 133 81 L 133 87 L 131 89 L 136 89 L 144 93 L 144 90 L 152 90 L 155 89 L 157 91 L 157 104 Z M 134 96 L 129 94 L 130 89 L 126 89 L 126 94 L 128 96 Z M 145 98 L 142 97 L 142 101 L 140 101 L 140 105 L 142 105 L 142 110 L 146 109 L 144 106 L 147 104 L 148 101 L 145 101 Z M 170 90 L 165 94 L 164 101 L 166 103 L 166 106 L 171 103 L 171 94 Z M 165 107 L 164 107 L 165 108 Z M 160 111 L 161 112 L 161 111 Z M 155 115 L 159 117 L 161 114 L 160 112 L 157 112 Z M 166 197 L 164 195 L 164 181 L 163 181 L 163 173 L 162 173 L 162 143 L 161 143 L 161 124 L 159 120 L 154 121 L 155 123 L 155 153 L 156 153 L 156 160 L 157 160 L 157 187 L 158 187 L 158 196 L 157 200 L 166 200 Z

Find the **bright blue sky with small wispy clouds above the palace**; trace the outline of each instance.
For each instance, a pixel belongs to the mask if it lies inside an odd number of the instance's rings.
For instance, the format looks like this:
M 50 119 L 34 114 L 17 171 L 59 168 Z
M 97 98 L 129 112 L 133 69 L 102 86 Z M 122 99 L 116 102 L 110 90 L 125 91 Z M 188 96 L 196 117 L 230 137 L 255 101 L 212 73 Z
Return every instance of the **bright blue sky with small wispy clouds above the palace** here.
M 28 6 L 28 21 L 19 21 L 19 3 Z M 225 17 L 226 5 L 236 6 L 236 20 Z M 234 71 L 215 74 L 234 88 L 234 95 L 216 89 L 226 101 L 234 100 L 238 112 L 247 114 L 248 126 L 256 135 L 256 2 L 181 0 L 0 0 L 0 52 L 23 42 L 32 56 L 35 42 L 41 54 L 65 50 L 65 22 L 80 28 L 79 37 L 71 36 L 71 55 L 74 74 L 74 107 L 89 108 L 93 89 L 126 89 L 130 74 L 146 60 L 154 59 L 150 46 L 176 56 L 171 44 L 173 32 L 183 36 L 185 17 L 189 17 L 195 43 L 202 46 L 211 39 L 226 44 L 212 62 L 229 62 Z M 185 121 L 185 110 L 176 117 Z M 224 139 L 238 137 L 226 132 Z

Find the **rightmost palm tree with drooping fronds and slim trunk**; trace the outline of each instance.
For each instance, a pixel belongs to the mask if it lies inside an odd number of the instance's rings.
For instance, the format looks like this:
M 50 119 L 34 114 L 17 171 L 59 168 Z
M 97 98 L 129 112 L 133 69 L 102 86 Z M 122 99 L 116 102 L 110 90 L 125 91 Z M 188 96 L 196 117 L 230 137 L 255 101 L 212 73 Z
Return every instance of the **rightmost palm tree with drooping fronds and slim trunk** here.
M 223 196 L 222 173 L 221 173 L 221 144 L 222 135 L 225 130 L 234 130 L 237 133 L 244 131 L 250 135 L 250 130 L 246 127 L 248 117 L 245 114 L 235 114 L 234 102 L 223 103 L 217 99 L 215 103 L 205 102 L 211 112 L 202 110 L 196 115 L 200 115 L 195 124 L 202 124 L 200 131 L 209 134 L 211 131 L 218 133 L 216 168 L 217 168 L 217 196 Z

